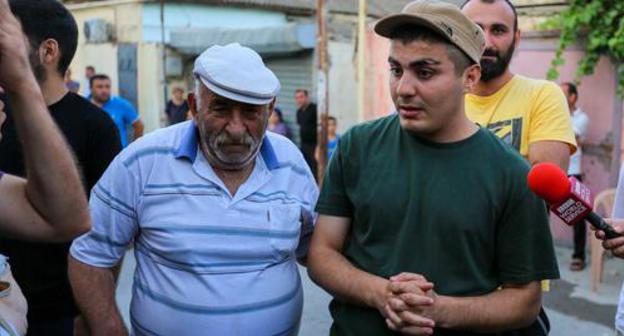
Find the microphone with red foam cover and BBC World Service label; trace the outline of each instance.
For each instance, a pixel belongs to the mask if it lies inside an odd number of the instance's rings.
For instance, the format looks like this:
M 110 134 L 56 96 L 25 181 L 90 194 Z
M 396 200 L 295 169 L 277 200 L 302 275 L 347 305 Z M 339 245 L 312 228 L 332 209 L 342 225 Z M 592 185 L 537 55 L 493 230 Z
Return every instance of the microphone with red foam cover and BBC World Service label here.
M 587 220 L 593 227 L 602 230 L 607 239 L 621 237 L 612 226 L 592 210 L 591 191 L 574 177 L 554 163 L 538 163 L 527 176 L 529 188 L 550 204 L 550 211 L 564 223 L 574 224 Z

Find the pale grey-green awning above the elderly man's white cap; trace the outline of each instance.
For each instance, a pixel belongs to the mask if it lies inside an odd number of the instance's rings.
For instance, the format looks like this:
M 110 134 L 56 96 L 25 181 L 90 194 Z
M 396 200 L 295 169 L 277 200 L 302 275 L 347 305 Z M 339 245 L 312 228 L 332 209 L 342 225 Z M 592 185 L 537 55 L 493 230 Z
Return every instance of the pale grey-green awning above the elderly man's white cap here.
M 313 49 L 314 24 L 287 24 L 263 28 L 186 28 L 170 32 L 169 46 L 188 55 L 198 55 L 213 45 L 238 42 L 260 54 L 288 53 Z

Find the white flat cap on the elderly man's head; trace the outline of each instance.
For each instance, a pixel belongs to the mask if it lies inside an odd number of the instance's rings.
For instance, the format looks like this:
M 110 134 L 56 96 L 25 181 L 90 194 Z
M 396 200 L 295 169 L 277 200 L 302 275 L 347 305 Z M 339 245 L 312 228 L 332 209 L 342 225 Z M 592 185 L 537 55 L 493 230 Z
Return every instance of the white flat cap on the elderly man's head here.
M 241 103 L 270 103 L 280 90 L 258 53 L 238 43 L 215 45 L 195 60 L 193 74 L 212 92 Z

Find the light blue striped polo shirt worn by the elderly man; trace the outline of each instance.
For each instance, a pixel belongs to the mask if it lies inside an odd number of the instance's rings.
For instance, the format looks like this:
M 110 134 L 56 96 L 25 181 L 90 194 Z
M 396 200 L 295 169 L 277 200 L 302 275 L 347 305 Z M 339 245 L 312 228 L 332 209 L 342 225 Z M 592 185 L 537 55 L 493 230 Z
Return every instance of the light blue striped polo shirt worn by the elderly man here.
M 288 139 L 267 132 L 235 195 L 199 150 L 192 121 L 140 138 L 93 188 L 91 231 L 71 254 L 111 267 L 133 244 L 135 335 L 291 335 L 303 294 L 316 182 Z

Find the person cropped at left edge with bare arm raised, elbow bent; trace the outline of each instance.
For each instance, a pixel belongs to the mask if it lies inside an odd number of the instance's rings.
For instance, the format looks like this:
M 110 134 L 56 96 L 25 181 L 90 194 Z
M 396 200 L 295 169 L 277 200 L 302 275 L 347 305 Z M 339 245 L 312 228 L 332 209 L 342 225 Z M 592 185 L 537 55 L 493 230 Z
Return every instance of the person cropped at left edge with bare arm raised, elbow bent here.
M 0 0 L 0 92 L 10 97 L 16 111 L 15 128 L 28 165 L 26 178 L 0 171 L 0 234 L 62 242 L 89 230 L 89 209 L 78 169 L 33 75 L 27 45 L 8 2 Z M 0 101 L 0 125 L 4 107 Z M 26 299 L 0 255 L 0 335 L 25 334 L 26 312 Z

